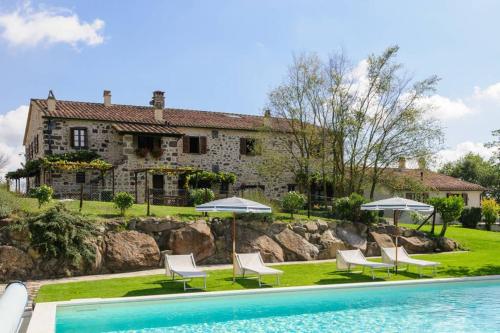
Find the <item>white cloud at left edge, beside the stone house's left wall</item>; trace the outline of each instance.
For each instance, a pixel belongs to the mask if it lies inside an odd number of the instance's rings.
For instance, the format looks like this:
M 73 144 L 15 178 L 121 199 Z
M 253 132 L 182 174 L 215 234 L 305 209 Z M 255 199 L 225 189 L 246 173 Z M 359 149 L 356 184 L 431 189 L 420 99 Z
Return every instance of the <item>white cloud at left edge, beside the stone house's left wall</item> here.
M 23 136 L 28 118 L 29 107 L 21 105 L 15 110 L 0 115 L 0 152 L 9 157 L 9 163 L 4 170 L 0 170 L 0 175 L 6 171 L 17 169 L 24 162 Z

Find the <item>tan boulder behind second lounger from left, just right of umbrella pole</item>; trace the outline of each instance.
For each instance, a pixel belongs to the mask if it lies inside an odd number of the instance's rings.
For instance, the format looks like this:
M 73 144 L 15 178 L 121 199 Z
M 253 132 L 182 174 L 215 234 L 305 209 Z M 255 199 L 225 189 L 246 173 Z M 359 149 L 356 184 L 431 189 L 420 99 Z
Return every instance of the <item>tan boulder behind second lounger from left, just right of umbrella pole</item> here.
M 229 243 L 232 242 L 231 238 L 227 239 Z M 285 260 L 283 249 L 271 237 L 245 227 L 237 228 L 236 251 L 239 253 L 260 252 L 265 262 L 283 262 Z

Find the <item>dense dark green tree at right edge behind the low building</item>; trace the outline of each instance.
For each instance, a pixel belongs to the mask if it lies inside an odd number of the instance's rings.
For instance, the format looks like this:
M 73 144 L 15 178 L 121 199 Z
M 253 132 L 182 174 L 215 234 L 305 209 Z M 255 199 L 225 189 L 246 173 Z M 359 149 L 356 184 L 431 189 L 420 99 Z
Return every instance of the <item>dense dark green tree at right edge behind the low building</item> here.
M 492 160 L 469 153 L 454 162 L 444 164 L 440 173 L 484 186 L 489 197 L 500 201 L 500 165 Z

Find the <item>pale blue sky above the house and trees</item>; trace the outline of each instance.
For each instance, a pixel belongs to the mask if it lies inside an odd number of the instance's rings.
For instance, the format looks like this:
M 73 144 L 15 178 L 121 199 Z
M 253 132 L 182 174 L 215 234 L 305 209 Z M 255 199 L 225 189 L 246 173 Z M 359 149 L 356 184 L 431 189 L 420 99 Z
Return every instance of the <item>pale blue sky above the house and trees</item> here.
M 294 53 L 357 63 L 398 44 L 446 128 L 445 160 L 500 127 L 499 1 L 0 0 L 0 149 L 20 149 L 26 105 L 57 98 L 261 112 Z M 13 157 L 11 165 L 19 163 Z

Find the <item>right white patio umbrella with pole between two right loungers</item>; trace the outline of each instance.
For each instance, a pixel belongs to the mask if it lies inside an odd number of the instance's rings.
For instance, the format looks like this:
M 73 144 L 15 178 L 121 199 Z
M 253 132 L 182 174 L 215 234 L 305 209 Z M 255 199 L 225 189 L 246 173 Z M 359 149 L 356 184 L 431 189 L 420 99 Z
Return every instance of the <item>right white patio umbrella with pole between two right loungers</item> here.
M 404 199 L 400 197 L 393 197 L 389 199 L 383 199 L 378 201 L 373 201 L 367 204 L 361 205 L 361 210 L 392 210 L 394 211 L 394 226 L 396 227 L 396 273 L 398 272 L 398 217 L 399 212 L 402 211 L 415 211 L 415 212 L 425 212 L 432 213 L 434 207 L 426 203 Z

